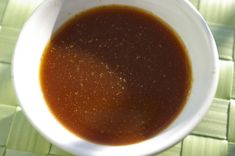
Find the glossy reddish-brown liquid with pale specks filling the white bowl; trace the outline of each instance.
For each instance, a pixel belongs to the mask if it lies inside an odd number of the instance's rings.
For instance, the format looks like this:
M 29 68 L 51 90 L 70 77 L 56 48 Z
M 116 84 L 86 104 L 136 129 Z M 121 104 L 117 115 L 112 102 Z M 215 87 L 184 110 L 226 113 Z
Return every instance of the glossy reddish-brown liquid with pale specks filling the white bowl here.
M 41 86 L 55 117 L 95 143 L 149 139 L 180 113 L 191 66 L 177 35 L 160 19 L 125 6 L 77 15 L 52 38 Z

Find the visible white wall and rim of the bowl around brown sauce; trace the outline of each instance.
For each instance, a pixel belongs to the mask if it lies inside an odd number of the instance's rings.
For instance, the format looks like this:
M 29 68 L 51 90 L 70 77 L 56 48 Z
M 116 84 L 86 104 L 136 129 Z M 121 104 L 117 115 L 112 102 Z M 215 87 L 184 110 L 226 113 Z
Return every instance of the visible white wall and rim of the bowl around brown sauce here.
M 48 110 L 39 83 L 40 59 L 51 34 L 74 14 L 107 4 L 136 6 L 162 18 L 182 38 L 192 61 L 193 86 L 182 113 L 156 137 L 126 146 L 93 144 L 66 130 Z M 217 86 L 218 54 L 208 26 L 187 0 L 46 0 L 20 34 L 13 79 L 23 111 L 33 126 L 64 150 L 82 156 L 149 155 L 180 141 L 207 112 Z

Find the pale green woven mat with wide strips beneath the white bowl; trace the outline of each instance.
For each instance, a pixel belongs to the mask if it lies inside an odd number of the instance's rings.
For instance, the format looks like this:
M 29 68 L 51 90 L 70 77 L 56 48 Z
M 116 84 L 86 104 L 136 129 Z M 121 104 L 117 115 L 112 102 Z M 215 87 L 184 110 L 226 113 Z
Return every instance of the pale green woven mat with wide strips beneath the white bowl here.
M 18 106 L 11 59 L 19 32 L 43 0 L 0 0 L 0 156 L 65 156 L 31 126 Z M 191 0 L 207 20 L 220 56 L 217 93 L 194 131 L 160 156 L 235 156 L 235 0 Z

